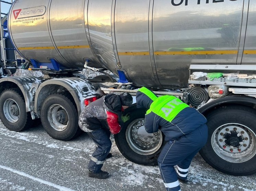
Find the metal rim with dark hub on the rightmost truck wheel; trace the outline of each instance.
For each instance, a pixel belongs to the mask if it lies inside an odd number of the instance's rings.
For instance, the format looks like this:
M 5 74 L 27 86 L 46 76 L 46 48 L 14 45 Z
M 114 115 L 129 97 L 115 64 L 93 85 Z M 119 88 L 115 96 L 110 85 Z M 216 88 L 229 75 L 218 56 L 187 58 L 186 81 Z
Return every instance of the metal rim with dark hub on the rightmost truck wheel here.
M 256 135 L 249 127 L 228 123 L 218 127 L 211 137 L 211 145 L 216 154 L 229 162 L 241 163 L 256 154 Z

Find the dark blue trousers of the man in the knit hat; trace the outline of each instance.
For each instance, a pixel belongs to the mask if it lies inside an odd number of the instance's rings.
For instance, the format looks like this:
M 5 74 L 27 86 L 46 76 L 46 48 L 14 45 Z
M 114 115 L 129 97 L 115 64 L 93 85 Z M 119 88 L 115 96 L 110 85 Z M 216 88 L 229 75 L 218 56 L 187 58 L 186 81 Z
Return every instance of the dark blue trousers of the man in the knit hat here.
M 111 149 L 112 142 L 110 140 L 110 132 L 107 129 L 97 129 L 93 132 L 87 132 L 92 138 L 93 142 L 97 145 L 96 150 L 92 154 L 88 169 L 94 173 L 101 171 L 101 167 Z

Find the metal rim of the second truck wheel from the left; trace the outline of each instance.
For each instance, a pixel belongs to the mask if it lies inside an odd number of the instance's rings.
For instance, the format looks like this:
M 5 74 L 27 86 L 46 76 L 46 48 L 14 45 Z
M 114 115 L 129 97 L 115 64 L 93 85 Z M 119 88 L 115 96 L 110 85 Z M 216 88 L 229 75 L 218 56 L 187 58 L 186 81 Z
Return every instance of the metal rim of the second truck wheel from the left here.
M 61 105 L 52 105 L 47 112 L 48 121 L 56 131 L 64 131 L 68 127 L 68 113 Z

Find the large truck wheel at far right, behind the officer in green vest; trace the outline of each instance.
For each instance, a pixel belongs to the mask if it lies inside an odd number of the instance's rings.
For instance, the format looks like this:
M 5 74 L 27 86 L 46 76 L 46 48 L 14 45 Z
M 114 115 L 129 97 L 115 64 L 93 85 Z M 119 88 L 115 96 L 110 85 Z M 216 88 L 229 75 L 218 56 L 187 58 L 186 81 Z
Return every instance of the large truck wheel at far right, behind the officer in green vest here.
M 202 158 L 220 172 L 244 176 L 256 173 L 256 111 L 235 105 L 206 116 L 208 141 Z

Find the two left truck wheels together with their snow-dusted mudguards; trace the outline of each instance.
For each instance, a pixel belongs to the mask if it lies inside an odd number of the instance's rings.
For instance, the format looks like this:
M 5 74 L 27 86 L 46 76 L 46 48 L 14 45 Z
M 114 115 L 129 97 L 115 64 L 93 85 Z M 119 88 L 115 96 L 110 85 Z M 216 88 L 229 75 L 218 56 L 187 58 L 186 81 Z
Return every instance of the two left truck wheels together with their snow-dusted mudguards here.
M 0 118 L 8 129 L 22 131 L 40 118 L 46 132 L 58 140 L 79 134 L 84 98 L 96 94 L 92 83 L 81 75 L 50 80 L 5 77 L 0 87 Z

